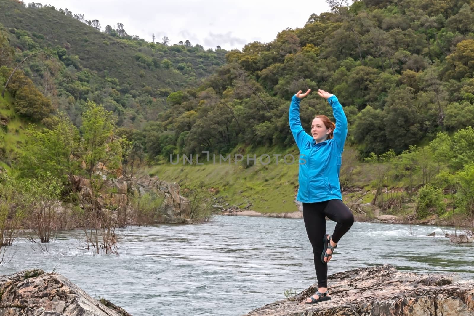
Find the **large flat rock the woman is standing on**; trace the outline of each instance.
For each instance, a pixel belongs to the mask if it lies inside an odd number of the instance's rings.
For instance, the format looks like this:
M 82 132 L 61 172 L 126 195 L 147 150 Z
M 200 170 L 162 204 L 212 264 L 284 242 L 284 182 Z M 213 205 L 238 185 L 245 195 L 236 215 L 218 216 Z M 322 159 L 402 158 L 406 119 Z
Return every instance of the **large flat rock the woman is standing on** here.
M 474 316 L 474 280 L 456 274 L 419 275 L 382 265 L 330 275 L 328 286 L 328 301 L 304 304 L 314 284 L 246 316 Z

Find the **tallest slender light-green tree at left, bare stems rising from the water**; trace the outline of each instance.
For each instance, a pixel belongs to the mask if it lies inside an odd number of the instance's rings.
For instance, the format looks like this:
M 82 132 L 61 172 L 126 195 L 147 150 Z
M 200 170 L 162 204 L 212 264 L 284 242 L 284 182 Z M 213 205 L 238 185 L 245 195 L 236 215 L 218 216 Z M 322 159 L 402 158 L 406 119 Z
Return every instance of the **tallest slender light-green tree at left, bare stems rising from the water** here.
M 91 246 L 95 253 L 101 250 L 117 253 L 115 229 L 128 202 L 125 198 L 114 201 L 104 185 L 121 168 L 122 140 L 114 135 L 116 118 L 112 112 L 92 101 L 88 101 L 86 107 L 82 116 L 80 156 L 88 181 L 85 192 L 78 194 L 83 211 L 78 212 L 77 217 L 86 236 L 87 249 Z

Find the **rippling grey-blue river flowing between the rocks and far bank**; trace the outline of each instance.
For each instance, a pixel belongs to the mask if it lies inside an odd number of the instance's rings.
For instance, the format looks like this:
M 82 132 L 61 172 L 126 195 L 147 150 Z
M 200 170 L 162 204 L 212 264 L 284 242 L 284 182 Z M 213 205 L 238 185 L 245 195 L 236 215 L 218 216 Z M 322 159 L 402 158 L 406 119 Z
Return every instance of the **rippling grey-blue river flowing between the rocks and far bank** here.
M 328 221 L 328 232 L 333 228 Z M 437 236 L 427 236 L 433 232 Z M 474 246 L 448 243 L 444 233 L 453 232 L 356 222 L 341 239 L 328 274 L 390 263 L 399 270 L 473 279 Z M 202 225 L 131 226 L 120 230 L 118 256 L 80 250 L 81 233 L 61 233 L 47 251 L 18 239 L 0 274 L 56 268 L 92 297 L 107 298 L 134 316 L 243 315 L 316 281 L 302 219 L 217 216 Z

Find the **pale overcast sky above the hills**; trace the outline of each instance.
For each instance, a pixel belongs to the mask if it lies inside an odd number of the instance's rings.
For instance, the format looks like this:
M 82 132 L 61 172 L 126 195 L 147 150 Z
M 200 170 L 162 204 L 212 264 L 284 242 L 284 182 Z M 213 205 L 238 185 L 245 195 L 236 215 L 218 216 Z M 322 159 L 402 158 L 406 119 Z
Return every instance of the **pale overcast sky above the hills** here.
M 33 1 L 33 0 L 32 0 Z M 186 41 L 204 48 L 242 49 L 253 41 L 273 41 L 286 27 L 303 27 L 312 13 L 327 12 L 325 0 L 35 0 L 56 9 L 124 24 L 129 35 L 151 42 L 168 36 L 171 44 Z M 25 0 L 25 3 L 31 1 Z

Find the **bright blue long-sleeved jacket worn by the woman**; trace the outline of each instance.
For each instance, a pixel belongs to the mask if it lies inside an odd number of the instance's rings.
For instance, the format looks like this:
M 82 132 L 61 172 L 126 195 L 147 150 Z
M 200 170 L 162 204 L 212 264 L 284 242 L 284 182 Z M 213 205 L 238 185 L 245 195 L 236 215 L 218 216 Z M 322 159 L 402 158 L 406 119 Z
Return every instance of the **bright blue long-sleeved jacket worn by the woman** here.
M 300 187 L 296 199 L 313 203 L 330 199 L 342 200 L 339 184 L 341 156 L 347 136 L 347 118 L 336 96 L 328 98 L 336 118 L 334 138 L 316 144 L 313 137 L 301 126 L 300 99 L 293 95 L 290 105 L 290 128 L 300 149 L 298 182 Z

